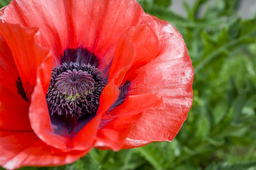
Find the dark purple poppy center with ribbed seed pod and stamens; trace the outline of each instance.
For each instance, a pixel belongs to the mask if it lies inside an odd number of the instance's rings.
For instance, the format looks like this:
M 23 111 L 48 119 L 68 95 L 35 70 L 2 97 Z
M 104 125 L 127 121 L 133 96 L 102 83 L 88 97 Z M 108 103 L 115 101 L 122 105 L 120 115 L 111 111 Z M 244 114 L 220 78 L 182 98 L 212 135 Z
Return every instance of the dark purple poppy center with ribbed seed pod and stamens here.
M 53 68 L 46 94 L 50 114 L 78 119 L 96 113 L 105 85 L 100 71 L 90 64 L 71 62 Z

